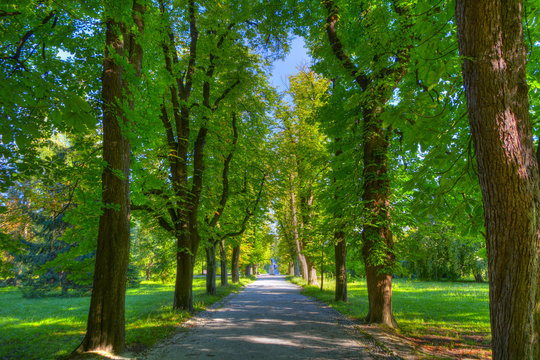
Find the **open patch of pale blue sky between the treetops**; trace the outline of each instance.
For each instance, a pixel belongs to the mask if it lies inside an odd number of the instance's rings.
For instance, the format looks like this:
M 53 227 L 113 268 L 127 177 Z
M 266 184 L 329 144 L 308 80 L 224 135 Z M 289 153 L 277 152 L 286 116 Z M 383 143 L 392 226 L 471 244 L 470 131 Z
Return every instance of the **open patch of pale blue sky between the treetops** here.
M 304 39 L 295 37 L 291 43 L 289 54 L 287 54 L 285 59 L 274 61 L 270 83 L 279 92 L 285 91 L 288 88 L 289 81 L 287 78 L 296 74 L 298 67 L 311 62 L 311 58 L 304 46 Z

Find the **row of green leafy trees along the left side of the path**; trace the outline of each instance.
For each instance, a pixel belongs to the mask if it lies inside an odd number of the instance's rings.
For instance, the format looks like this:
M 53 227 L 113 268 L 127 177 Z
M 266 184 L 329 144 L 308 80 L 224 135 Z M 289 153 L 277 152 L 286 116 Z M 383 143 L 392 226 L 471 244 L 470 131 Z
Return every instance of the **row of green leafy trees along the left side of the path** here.
M 24 241 L 44 243 L 40 222 L 17 214 L 64 220 L 50 240 L 62 249 L 48 251 L 38 266 L 70 281 L 93 274 L 87 332 L 76 352 L 122 351 L 130 254 L 137 263 L 155 239 L 165 267 L 176 262 L 178 310 L 193 309 L 200 247 L 209 293 L 216 291 L 218 245 L 222 284 L 227 241 L 233 281 L 242 243 L 247 269 L 268 257 L 266 139 L 276 94 L 265 64 L 287 34 L 266 5 L 20 2 L 0 10 L 8 85 L 1 94 L 8 120 L 1 124 L 3 197 L 14 207 L 3 220 L 24 224 L 2 227 L 11 246 L 3 264 L 20 263 L 17 252 L 33 255 Z M 149 229 L 152 236 L 139 236 Z

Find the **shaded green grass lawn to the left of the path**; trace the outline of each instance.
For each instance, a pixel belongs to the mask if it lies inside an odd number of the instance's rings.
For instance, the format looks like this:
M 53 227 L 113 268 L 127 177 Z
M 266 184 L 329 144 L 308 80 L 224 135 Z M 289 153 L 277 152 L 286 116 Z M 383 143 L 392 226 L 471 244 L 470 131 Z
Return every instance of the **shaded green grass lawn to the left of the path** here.
M 193 279 L 193 306 L 202 310 L 240 284 L 219 287 L 218 295 L 205 294 L 204 278 Z M 230 284 L 230 282 L 229 282 Z M 171 334 L 189 317 L 173 312 L 174 285 L 142 282 L 126 294 L 126 342 L 129 347 L 150 346 Z M 0 359 L 56 359 L 80 344 L 86 330 L 90 297 L 25 299 L 14 288 L 0 288 Z

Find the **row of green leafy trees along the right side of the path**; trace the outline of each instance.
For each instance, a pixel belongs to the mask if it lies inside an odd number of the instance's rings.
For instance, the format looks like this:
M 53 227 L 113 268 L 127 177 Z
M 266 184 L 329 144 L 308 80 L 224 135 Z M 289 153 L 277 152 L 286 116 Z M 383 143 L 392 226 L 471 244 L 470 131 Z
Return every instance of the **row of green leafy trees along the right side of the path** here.
M 531 40 L 538 31 L 537 6 L 521 1 L 452 5 L 353 6 L 331 0 L 299 5 L 294 28 L 307 40 L 313 69 L 331 79 L 323 95 L 331 110 L 317 103 L 320 94 L 303 103 L 293 80 L 294 126 L 288 126 L 291 112 L 281 117 L 283 147 L 294 149 L 278 215 L 283 248 L 313 283 L 311 263 L 333 234 L 336 300 L 346 300 L 342 239 L 356 245 L 360 237 L 366 320 L 395 326 L 391 282 L 400 251 L 421 255 L 422 241 L 435 238 L 430 251 L 440 249 L 447 259 L 424 253 L 423 264 L 401 261 L 401 268 L 419 276 L 435 272 L 436 278 L 439 271 L 448 277 L 468 271 L 480 280 L 483 250 L 476 239 L 485 237 L 494 358 L 533 358 L 540 329 L 538 170 L 529 116 L 537 106 L 538 43 Z M 306 88 L 319 85 L 311 79 L 300 87 L 310 94 Z M 327 146 L 304 152 L 304 157 L 317 154 L 306 161 L 295 151 L 321 141 L 310 142 L 318 136 L 313 129 L 302 140 L 295 135 L 313 123 Z M 324 190 L 314 190 L 318 185 Z M 446 239 L 455 235 L 449 232 L 462 238 L 452 243 Z M 452 264 L 451 258 L 467 253 L 477 261 Z

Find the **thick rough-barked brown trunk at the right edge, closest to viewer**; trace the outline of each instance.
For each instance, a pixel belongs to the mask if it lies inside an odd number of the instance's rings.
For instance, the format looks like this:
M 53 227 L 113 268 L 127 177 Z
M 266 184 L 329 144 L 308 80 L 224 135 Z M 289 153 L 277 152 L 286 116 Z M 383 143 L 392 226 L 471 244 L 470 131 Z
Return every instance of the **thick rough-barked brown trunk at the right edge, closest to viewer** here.
M 533 353 L 539 175 L 522 11 L 517 0 L 456 2 L 484 203 L 493 359 L 540 358 Z

